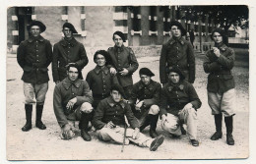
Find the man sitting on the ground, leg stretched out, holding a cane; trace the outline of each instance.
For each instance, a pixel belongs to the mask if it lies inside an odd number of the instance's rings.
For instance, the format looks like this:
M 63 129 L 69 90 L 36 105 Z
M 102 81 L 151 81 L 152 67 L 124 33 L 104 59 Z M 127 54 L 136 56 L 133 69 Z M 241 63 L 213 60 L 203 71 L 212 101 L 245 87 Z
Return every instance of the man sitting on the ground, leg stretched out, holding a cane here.
M 130 105 L 123 100 L 123 95 L 122 87 L 115 84 L 111 87 L 110 96 L 98 103 L 93 120 L 96 136 L 101 140 L 120 144 L 123 141 L 124 144 L 132 141 L 139 146 L 150 147 L 151 151 L 156 151 L 164 137 L 159 136 L 153 139 L 140 133 L 139 122 L 134 117 Z M 125 116 L 131 125 L 129 128 L 125 125 Z

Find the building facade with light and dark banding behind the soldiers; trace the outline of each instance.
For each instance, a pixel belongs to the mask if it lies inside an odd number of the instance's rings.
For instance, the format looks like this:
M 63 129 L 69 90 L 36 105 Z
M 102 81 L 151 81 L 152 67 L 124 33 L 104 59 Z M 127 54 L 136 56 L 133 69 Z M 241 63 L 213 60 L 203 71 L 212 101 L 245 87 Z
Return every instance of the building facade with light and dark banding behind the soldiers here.
M 187 30 L 194 29 L 194 48 L 207 50 L 212 44 L 209 34 L 215 25 L 207 16 L 204 20 L 186 20 L 183 17 L 186 13 L 180 9 L 178 6 L 11 7 L 7 11 L 8 49 L 16 53 L 21 41 L 29 37 L 27 26 L 32 20 L 45 24 L 42 36 L 52 44 L 61 39 L 62 26 L 69 22 L 78 30 L 75 37 L 86 47 L 112 46 L 115 30 L 125 33 L 125 44 L 129 46 L 161 45 L 170 37 L 169 23 L 177 20 Z

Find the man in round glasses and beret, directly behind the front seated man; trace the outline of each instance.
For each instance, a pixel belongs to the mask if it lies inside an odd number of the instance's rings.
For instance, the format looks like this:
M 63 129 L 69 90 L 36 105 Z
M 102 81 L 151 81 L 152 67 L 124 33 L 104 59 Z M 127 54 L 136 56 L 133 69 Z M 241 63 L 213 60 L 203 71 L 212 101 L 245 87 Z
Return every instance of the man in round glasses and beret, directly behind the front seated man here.
M 118 84 L 118 80 L 115 75 L 110 74 L 109 68 L 106 67 L 111 64 L 111 58 L 106 51 L 96 51 L 94 61 L 96 68 L 88 73 L 86 80 L 92 89 L 93 106 L 96 109 L 98 102 L 110 95 L 111 86 L 114 83 Z

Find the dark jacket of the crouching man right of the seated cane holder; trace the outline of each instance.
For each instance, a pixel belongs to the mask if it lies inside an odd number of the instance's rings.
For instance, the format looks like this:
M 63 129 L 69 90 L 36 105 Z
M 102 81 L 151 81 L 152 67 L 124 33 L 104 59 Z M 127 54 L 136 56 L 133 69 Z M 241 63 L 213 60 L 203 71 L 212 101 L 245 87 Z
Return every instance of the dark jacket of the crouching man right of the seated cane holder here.
M 130 102 L 136 104 L 136 101 L 144 101 L 146 108 L 150 108 L 152 105 L 159 105 L 160 103 L 160 83 L 151 80 L 146 85 L 142 81 L 136 82 L 133 85 Z

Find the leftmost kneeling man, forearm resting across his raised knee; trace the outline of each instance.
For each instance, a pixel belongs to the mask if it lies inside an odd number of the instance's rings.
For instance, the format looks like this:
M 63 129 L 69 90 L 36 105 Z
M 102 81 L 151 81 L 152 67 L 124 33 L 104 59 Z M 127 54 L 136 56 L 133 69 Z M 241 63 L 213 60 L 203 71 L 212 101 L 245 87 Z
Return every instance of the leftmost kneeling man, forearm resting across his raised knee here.
M 78 79 L 80 74 L 81 70 L 77 64 L 70 64 L 67 67 L 68 77 L 55 85 L 53 108 L 63 139 L 75 136 L 73 123 L 79 120 L 81 137 L 90 141 L 92 138 L 88 131 L 89 122 L 93 118 L 93 97 L 88 83 Z

